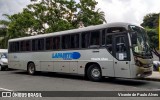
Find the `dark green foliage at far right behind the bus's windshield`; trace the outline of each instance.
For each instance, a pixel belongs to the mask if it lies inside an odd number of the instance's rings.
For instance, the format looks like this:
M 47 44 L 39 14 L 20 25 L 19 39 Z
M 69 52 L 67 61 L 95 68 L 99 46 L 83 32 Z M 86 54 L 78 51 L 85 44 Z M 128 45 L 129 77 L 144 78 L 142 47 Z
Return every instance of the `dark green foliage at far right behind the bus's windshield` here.
M 158 48 L 158 18 L 158 13 L 147 14 L 141 24 L 146 29 L 151 46 L 155 48 Z

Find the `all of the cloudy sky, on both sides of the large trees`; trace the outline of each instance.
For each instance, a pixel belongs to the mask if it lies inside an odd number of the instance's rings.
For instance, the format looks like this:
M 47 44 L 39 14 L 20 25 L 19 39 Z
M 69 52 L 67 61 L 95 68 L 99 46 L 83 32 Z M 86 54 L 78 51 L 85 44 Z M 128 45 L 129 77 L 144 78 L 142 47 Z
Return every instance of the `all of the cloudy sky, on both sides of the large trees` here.
M 78 1 L 78 0 L 76 0 Z M 105 12 L 105 18 L 110 22 L 129 22 L 140 25 L 148 13 L 160 12 L 160 0 L 96 0 L 96 8 Z M 30 0 L 0 0 L 0 20 L 2 14 L 21 12 Z

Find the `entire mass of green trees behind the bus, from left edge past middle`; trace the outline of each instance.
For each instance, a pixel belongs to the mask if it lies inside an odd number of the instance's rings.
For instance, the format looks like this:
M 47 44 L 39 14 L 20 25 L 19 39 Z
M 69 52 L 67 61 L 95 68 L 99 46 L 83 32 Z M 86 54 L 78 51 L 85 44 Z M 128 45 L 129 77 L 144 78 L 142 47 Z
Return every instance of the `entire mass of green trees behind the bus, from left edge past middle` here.
M 33 3 L 22 12 L 7 15 L 6 41 L 11 38 L 45 34 L 106 22 L 104 12 L 95 9 L 95 0 L 31 0 Z M 4 47 L 7 46 L 7 42 Z

